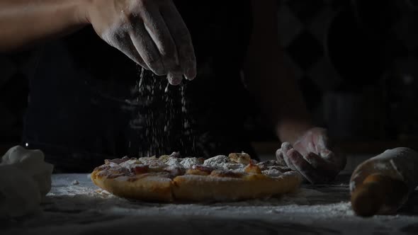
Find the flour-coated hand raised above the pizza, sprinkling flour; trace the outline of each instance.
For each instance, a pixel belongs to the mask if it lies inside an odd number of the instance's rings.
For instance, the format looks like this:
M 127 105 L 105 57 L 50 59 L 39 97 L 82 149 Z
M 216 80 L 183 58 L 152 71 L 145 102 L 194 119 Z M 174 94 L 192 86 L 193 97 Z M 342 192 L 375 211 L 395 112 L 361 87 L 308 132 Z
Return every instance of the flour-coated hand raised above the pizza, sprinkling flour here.
M 196 76 L 191 35 L 171 0 L 91 0 L 84 7 L 96 33 L 172 85 Z

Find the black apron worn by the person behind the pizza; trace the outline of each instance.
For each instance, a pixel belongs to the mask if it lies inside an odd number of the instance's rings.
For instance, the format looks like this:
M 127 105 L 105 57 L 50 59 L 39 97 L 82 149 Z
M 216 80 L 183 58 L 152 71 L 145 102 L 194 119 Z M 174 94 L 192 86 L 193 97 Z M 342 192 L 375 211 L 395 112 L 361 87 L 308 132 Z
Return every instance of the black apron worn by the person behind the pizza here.
M 42 149 L 57 172 L 91 171 L 125 155 L 254 155 L 243 128 L 250 99 L 239 75 L 251 33 L 249 1 L 175 3 L 195 47 L 194 81 L 166 89 L 166 79 L 141 74 L 84 28 L 43 48 L 30 78 L 23 144 Z

